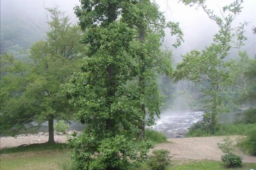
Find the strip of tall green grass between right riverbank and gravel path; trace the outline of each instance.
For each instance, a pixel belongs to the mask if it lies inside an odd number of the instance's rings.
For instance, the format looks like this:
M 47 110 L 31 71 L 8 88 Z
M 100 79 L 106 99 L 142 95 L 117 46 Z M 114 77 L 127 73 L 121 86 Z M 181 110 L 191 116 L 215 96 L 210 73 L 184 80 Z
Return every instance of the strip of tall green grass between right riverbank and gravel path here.
M 211 134 L 206 129 L 193 129 L 190 128 L 186 137 L 197 136 L 227 136 L 227 135 L 246 135 L 248 130 L 256 130 L 256 124 L 230 124 L 230 125 L 218 125 L 215 129 L 215 133 Z

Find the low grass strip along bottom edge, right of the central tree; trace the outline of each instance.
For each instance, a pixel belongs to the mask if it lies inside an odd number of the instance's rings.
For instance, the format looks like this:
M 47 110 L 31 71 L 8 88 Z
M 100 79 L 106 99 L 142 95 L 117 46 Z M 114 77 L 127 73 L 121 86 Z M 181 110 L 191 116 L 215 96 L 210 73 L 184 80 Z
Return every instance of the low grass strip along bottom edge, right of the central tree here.
M 221 161 L 173 161 L 168 170 L 250 170 L 256 169 L 256 163 L 244 163 L 238 169 L 226 167 Z M 143 164 L 141 167 L 132 168 L 131 170 L 150 170 L 148 165 Z

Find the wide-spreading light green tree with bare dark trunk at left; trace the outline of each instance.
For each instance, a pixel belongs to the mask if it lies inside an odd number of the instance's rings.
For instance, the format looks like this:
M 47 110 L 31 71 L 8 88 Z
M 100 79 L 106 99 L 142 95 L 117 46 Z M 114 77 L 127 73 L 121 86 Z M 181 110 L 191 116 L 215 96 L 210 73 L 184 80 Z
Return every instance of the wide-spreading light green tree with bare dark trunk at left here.
M 5 75 L 1 79 L 1 133 L 26 129 L 26 125 L 49 122 L 49 143 L 54 143 L 54 119 L 70 120 L 72 105 L 60 90 L 60 85 L 76 71 L 81 56 L 78 26 L 58 8 L 48 8 L 47 40 L 30 48 L 29 61 L 1 56 Z

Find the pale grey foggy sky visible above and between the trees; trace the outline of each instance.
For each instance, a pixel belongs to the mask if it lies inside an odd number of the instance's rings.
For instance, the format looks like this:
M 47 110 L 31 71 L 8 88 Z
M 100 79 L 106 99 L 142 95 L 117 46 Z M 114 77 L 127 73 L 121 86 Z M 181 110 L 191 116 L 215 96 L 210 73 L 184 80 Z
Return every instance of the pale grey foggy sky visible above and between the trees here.
M 185 6 L 183 3 L 178 3 L 178 0 L 156 0 L 161 11 L 165 11 L 165 16 L 168 21 L 180 23 L 180 28 L 184 33 L 185 42 L 177 49 L 172 48 L 175 57 L 185 54 L 192 49 L 202 50 L 212 43 L 213 35 L 217 33 L 218 27 L 213 20 L 210 20 L 206 13 L 196 6 Z M 215 14 L 219 15 L 219 7 L 229 4 L 232 0 L 208 0 L 207 6 L 215 10 Z M 1 0 L 0 1 L 0 17 L 9 20 L 23 20 L 31 26 L 32 23 L 26 21 L 33 20 L 41 28 L 46 28 L 46 12 L 45 7 L 59 6 L 59 9 L 66 11 L 73 23 L 77 22 L 77 18 L 73 12 L 73 8 L 79 5 L 79 0 Z M 246 50 L 250 57 L 256 54 L 256 36 L 253 35 L 252 28 L 256 25 L 256 0 L 244 0 L 242 5 L 244 8 L 235 20 L 235 26 L 241 22 L 250 22 L 245 29 L 247 41 L 245 46 L 239 50 Z M 45 30 L 47 31 L 47 30 Z M 29 33 L 28 33 L 29 34 Z M 171 37 L 166 30 L 166 40 L 164 45 L 172 47 L 174 37 Z M 237 54 L 238 50 L 231 51 L 232 54 Z

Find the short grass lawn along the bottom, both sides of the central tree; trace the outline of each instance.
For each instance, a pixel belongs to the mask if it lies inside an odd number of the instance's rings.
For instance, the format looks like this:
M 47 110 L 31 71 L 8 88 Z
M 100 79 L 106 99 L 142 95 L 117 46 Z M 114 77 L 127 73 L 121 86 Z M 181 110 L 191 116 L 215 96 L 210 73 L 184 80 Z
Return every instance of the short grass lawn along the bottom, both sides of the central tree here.
M 66 150 L 24 151 L 1 153 L 1 170 L 69 170 L 70 163 Z M 244 163 L 243 167 L 234 170 L 256 170 L 255 164 Z M 150 170 L 146 164 L 131 170 Z M 221 161 L 173 160 L 169 170 L 230 170 Z M 232 169 L 231 169 L 232 170 Z

